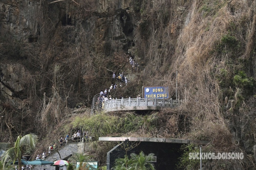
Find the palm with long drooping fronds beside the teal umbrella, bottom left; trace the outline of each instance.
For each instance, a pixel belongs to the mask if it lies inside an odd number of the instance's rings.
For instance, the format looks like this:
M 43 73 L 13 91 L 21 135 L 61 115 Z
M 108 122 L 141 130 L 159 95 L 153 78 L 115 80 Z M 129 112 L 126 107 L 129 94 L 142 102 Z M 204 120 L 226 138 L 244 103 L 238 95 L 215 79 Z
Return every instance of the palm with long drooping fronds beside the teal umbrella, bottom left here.
M 11 147 L 10 143 L 0 143 L 0 150 L 4 150 L 1 156 L 3 169 L 7 162 L 13 161 L 14 164 L 18 160 L 18 169 L 21 170 L 21 158 L 28 148 L 31 150 L 36 148 L 37 138 L 36 134 L 26 134 L 23 137 L 18 136 L 13 147 Z

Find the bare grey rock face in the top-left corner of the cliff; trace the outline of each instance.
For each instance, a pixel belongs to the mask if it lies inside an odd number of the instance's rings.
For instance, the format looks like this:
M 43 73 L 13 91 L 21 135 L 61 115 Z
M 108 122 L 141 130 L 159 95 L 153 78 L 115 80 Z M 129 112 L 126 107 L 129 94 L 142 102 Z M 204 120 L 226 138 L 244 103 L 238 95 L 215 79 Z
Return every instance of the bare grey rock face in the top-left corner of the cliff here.
M 1 1 L 1 32 L 28 42 L 39 34 L 40 1 Z

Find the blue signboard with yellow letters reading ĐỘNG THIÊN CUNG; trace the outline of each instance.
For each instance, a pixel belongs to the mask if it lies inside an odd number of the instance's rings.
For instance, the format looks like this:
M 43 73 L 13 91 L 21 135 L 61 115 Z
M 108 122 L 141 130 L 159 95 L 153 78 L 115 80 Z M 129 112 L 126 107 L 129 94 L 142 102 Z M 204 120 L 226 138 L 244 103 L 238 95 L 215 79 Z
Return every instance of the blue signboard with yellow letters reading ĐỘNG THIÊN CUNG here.
M 169 99 L 169 87 L 144 87 L 144 98 Z

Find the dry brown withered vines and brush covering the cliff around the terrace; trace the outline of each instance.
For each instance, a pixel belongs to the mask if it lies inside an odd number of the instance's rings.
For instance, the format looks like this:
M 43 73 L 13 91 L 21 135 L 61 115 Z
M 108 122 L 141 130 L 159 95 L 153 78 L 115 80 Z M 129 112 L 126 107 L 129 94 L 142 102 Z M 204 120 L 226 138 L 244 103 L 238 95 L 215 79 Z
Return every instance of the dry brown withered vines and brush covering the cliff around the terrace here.
M 100 14 L 96 1 L 42 2 L 37 43 L 1 35 L 2 61 L 27 69 L 26 91 L 16 94 L 20 102 L 0 96 L 3 141 L 37 133 L 41 151 L 53 138 L 86 127 L 79 120 L 94 121 L 93 96 L 110 87 L 113 72 L 122 71 L 134 78 L 115 97 L 135 97 L 142 86 L 168 86 L 181 106 L 144 115 L 104 114 L 116 124 L 102 134 L 204 140 L 216 152 L 247 151 L 243 142 L 256 141 L 255 1 L 129 1 L 136 21 L 133 57 L 143 72 L 134 71 L 126 49 L 109 36 L 120 12 L 116 1 Z M 48 9 L 60 10 L 56 25 Z

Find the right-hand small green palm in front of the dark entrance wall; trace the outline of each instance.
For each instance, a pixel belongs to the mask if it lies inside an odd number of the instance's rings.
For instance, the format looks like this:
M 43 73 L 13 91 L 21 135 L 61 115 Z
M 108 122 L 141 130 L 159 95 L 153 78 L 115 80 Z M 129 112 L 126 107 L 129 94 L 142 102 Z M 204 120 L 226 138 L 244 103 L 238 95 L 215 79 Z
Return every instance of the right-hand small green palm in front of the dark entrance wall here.
M 149 153 L 145 155 L 143 151 L 141 151 L 138 155 L 135 153 L 131 153 L 132 160 L 132 169 L 134 170 L 155 170 L 154 164 L 149 161 L 153 160 L 154 153 Z

